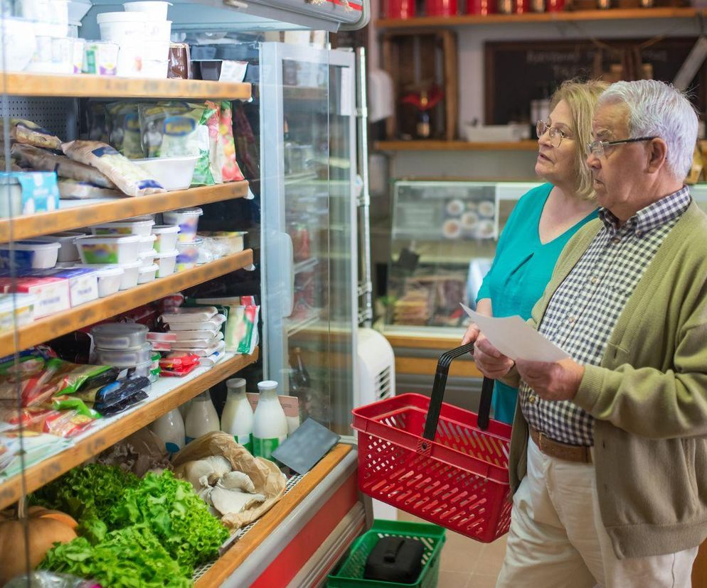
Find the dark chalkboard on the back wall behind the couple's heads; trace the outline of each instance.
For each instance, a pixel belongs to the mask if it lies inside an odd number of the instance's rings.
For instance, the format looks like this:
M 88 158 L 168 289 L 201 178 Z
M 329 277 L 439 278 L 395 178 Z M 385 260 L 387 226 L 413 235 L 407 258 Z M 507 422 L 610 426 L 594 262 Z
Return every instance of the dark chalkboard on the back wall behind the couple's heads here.
M 624 50 L 639 48 L 644 69 L 654 80 L 672 82 L 696 38 L 521 41 L 486 43 L 485 121 L 506 124 L 529 121 L 531 100 L 551 94 L 564 80 L 592 78 L 617 70 Z M 642 43 L 646 46 L 641 48 Z M 649 44 L 650 43 L 650 44 Z M 613 68 L 612 68 L 613 66 Z M 620 74 L 619 74 L 620 75 Z M 608 80 L 607 81 L 614 81 Z M 705 111 L 707 67 L 689 85 L 698 111 Z

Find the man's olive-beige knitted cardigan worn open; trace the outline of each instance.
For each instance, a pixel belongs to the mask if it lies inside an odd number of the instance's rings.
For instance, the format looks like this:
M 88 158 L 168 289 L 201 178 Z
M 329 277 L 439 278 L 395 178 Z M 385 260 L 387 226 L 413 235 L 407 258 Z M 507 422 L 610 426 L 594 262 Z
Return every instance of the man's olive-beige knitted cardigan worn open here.
M 582 227 L 530 319 L 600 231 Z M 504 381 L 517 386 L 517 372 Z M 602 521 L 617 557 L 678 552 L 707 537 L 707 215 L 692 202 L 627 300 L 601 366 L 585 366 L 574 402 L 595 420 Z M 513 491 L 526 475 L 528 424 L 516 407 Z

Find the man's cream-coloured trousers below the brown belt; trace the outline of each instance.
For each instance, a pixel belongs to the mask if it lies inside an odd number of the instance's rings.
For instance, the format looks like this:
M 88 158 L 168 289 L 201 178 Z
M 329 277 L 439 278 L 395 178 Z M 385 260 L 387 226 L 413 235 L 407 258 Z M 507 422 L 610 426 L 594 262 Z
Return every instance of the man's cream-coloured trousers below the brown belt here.
M 602 524 L 592 464 L 541 453 L 514 496 L 496 588 L 690 588 L 698 548 L 618 560 Z

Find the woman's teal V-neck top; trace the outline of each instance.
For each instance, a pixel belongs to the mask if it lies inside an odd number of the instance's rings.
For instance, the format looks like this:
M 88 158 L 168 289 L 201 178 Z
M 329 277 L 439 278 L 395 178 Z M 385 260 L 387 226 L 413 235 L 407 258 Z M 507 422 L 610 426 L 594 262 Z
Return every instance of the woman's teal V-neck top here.
M 494 317 L 520 315 L 528 320 L 550 281 L 560 251 L 580 227 L 597 217 L 594 210 L 560 236 L 542 244 L 538 227 L 552 189 L 552 184 L 543 184 L 528 190 L 501 233 L 494 263 L 477 295 L 477 300 L 491 298 Z M 518 388 L 496 381 L 491 403 L 494 418 L 512 423 L 517 398 Z

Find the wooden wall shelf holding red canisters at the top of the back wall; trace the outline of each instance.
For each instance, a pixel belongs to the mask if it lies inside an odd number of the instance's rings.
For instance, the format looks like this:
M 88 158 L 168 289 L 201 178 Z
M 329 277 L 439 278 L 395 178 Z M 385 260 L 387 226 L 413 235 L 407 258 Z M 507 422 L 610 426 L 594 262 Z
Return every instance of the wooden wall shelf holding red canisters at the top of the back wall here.
M 380 18 L 378 28 L 420 28 L 427 26 L 468 26 L 515 23 L 556 23 L 580 21 L 627 21 L 644 18 L 695 18 L 706 11 L 693 8 L 610 9 L 541 12 L 526 14 L 463 14 L 459 16 L 418 16 L 415 18 Z

